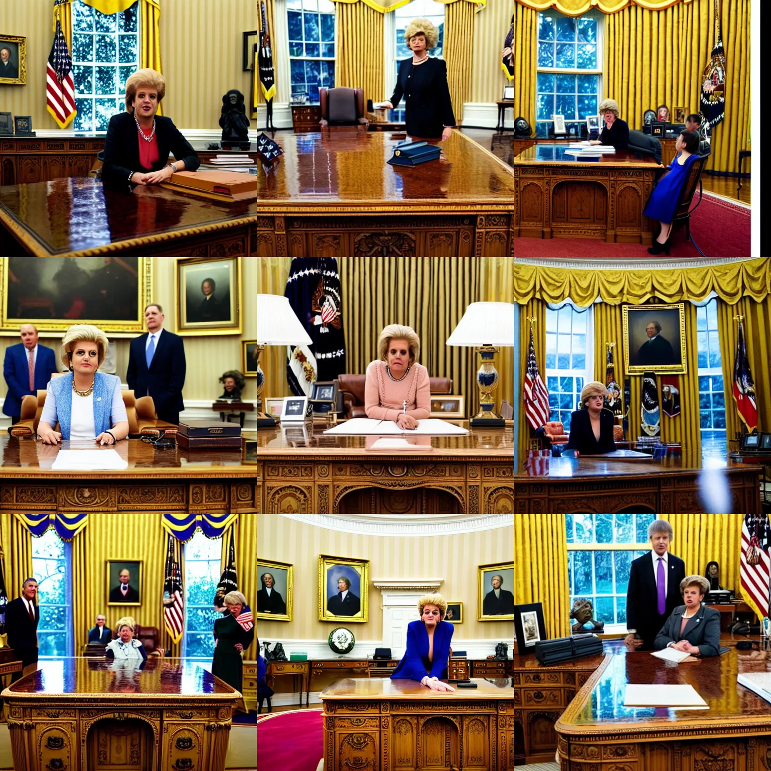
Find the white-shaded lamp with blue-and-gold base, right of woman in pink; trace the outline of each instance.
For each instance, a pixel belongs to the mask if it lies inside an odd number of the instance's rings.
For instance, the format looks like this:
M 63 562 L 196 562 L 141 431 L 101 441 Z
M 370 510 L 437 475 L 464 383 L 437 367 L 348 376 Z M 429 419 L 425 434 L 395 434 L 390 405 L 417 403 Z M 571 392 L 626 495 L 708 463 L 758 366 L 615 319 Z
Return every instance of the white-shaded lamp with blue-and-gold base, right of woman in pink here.
M 495 355 L 502 345 L 514 345 L 513 302 L 473 302 L 447 338 L 446 345 L 473 345 L 482 357 L 476 372 L 480 389 L 480 412 L 470 419 L 470 426 L 500 426 L 506 421 L 495 411 L 498 371 Z

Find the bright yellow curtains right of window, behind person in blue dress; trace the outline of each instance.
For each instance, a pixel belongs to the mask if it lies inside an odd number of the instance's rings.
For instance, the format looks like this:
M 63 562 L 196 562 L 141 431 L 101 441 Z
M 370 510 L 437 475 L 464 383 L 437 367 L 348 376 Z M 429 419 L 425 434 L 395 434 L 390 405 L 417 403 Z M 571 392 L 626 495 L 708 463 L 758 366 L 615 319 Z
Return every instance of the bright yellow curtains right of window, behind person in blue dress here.
M 538 4 L 527 0 L 526 5 Z M 588 6 L 588 2 L 575 0 L 569 5 Z M 739 150 L 749 145 L 749 5 L 750 0 L 720 4 L 729 89 L 725 119 L 712 131 L 707 170 L 735 172 Z M 623 10 L 614 13 L 618 8 Z M 699 112 L 702 72 L 715 45 L 713 0 L 674 4 L 638 0 L 636 5 L 619 0 L 602 3 L 601 10 L 612 13 L 605 22 L 603 96 L 618 102 L 629 127 L 642 126 L 645 110 L 660 104 L 666 104 L 670 113 L 680 106 L 686 114 Z

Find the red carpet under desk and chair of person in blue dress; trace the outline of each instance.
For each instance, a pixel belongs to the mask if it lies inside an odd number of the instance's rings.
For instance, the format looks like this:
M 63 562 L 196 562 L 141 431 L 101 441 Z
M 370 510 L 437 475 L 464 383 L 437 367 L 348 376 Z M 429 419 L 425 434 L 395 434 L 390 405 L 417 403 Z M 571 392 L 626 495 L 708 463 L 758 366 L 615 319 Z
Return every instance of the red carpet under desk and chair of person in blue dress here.
M 699 199 L 694 196 L 692 205 Z M 691 215 L 691 237 L 706 257 L 750 257 L 749 209 L 731 201 L 704 197 Z M 650 257 L 641 244 L 606 244 L 588 238 L 515 238 L 514 257 Z M 666 259 L 662 252 L 658 255 Z M 672 238 L 670 257 L 699 257 L 691 241 L 685 241 L 685 227 Z

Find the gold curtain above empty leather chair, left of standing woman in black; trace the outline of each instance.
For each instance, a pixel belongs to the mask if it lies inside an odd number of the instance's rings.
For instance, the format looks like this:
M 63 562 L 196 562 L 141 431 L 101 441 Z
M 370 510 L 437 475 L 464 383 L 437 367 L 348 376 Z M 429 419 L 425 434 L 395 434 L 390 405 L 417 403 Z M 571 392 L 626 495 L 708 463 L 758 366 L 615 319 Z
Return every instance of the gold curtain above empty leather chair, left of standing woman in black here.
M 335 86 L 364 89 L 364 99 L 385 99 L 383 15 L 372 6 L 338 3 Z

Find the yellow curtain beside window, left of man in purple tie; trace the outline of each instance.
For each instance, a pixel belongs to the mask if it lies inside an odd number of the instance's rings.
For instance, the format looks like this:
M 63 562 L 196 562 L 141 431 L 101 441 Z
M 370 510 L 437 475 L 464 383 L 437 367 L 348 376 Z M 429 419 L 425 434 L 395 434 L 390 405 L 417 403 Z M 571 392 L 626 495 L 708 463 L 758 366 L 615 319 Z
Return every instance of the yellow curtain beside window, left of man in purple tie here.
M 564 514 L 514 517 L 514 604 L 531 602 L 543 604 L 544 626 L 550 640 L 570 635 Z

